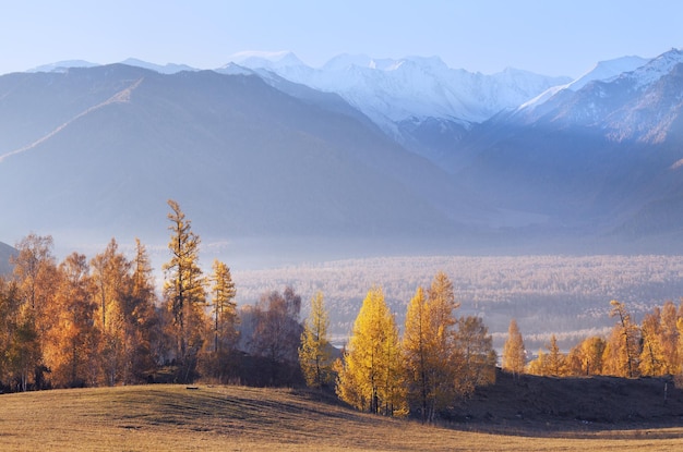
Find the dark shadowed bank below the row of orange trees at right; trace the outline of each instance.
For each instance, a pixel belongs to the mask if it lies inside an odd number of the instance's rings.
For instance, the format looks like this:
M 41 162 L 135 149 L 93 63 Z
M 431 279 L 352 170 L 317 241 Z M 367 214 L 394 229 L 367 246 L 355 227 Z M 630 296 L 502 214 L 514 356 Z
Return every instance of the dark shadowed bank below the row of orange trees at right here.
M 664 401 L 664 391 L 667 400 Z M 506 431 L 590 431 L 683 426 L 683 389 L 671 378 L 552 378 L 498 371 L 454 418 Z

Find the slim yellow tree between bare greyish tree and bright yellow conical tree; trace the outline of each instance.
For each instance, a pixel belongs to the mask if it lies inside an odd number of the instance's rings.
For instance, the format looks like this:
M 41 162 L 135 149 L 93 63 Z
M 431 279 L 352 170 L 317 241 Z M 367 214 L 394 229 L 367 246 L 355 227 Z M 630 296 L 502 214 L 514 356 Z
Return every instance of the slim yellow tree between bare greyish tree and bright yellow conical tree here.
M 309 388 L 322 388 L 332 381 L 332 354 L 327 330 L 329 315 L 322 292 L 311 298 L 311 314 L 303 322 L 299 364 Z

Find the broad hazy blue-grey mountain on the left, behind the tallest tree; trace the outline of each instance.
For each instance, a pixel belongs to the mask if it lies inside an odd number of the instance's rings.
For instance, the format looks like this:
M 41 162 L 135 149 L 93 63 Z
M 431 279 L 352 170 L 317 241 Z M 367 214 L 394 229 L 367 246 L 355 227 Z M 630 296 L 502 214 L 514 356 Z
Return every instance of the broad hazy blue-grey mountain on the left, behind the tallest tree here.
M 483 221 L 445 172 L 307 89 L 122 64 L 2 76 L 0 235 L 165 242 L 168 198 L 214 240 L 432 239 Z

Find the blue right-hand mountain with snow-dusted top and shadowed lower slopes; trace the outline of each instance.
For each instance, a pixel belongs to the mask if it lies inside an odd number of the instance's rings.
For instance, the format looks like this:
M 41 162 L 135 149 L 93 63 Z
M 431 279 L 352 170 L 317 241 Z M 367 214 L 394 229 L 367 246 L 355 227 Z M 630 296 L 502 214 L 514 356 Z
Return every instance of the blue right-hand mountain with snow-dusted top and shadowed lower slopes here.
M 681 93 L 674 49 L 500 113 L 465 138 L 450 170 L 499 206 L 539 215 L 546 230 L 679 233 Z

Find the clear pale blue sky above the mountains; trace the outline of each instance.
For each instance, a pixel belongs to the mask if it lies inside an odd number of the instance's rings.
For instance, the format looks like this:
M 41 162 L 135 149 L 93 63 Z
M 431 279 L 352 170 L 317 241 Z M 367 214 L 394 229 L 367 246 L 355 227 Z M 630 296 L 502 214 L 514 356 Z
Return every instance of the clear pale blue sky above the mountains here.
M 0 74 L 137 58 L 216 69 L 240 51 L 440 57 L 486 74 L 578 77 L 683 47 L 679 0 L 0 0 Z

